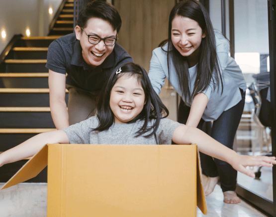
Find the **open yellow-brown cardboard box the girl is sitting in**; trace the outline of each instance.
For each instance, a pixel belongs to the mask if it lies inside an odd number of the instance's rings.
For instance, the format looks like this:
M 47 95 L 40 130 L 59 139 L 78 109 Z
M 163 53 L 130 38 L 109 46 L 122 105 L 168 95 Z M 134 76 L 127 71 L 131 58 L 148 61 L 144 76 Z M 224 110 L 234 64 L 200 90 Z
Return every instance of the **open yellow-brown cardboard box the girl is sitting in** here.
M 196 145 L 48 144 L 2 189 L 47 164 L 47 217 L 196 217 L 196 206 L 207 213 Z

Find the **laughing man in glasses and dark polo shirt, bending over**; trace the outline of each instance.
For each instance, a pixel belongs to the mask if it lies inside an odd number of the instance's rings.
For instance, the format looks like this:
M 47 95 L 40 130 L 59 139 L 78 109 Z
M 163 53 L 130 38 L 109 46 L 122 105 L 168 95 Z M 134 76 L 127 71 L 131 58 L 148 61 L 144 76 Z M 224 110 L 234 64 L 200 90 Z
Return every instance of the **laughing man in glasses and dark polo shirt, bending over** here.
M 114 6 L 95 0 L 81 10 L 76 33 L 50 44 L 46 67 L 51 115 L 58 130 L 93 116 L 96 97 L 111 71 L 123 62 L 133 62 L 116 43 L 121 23 Z M 69 90 L 68 111 L 65 88 Z

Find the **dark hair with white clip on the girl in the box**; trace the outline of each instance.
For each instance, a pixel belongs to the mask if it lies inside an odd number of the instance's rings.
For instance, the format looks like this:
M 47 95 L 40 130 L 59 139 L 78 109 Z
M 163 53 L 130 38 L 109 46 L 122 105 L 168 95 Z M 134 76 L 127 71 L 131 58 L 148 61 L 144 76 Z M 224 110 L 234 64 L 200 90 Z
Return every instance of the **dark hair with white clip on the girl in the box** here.
M 119 68 L 121 69 L 121 72 L 116 74 L 116 71 Z M 154 91 L 145 69 L 132 62 L 121 64 L 117 68 L 115 68 L 111 73 L 108 81 L 102 87 L 102 90 L 98 97 L 96 112 L 99 125 L 95 129 L 93 129 L 93 131 L 103 131 L 109 129 L 109 127 L 111 127 L 111 125 L 114 123 L 114 115 L 109 104 L 110 94 L 112 87 L 122 76 L 135 76 L 138 83 L 141 84 L 145 93 L 146 104 L 144 105 L 143 110 L 137 117 L 135 117 L 128 123 L 134 123 L 138 120 L 144 120 L 144 125 L 136 132 L 136 137 L 151 131 L 152 132 L 150 134 L 145 135 L 144 137 L 148 138 L 152 135 L 155 135 L 160 123 L 160 119 L 167 117 L 169 115 L 169 111 L 162 103 L 157 93 Z M 154 119 L 154 123 L 152 126 L 148 127 L 148 122 L 152 119 Z

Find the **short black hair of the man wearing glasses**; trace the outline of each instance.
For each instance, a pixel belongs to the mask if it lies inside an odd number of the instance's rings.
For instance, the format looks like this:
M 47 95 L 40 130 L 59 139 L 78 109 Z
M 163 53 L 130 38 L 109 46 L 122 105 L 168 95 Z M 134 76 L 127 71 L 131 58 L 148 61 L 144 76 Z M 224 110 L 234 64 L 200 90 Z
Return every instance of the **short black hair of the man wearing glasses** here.
M 77 25 L 86 28 L 87 21 L 92 17 L 103 19 L 109 22 L 112 25 L 113 30 L 117 30 L 117 33 L 120 31 L 122 20 L 113 5 L 103 0 L 93 0 L 89 2 L 80 11 Z

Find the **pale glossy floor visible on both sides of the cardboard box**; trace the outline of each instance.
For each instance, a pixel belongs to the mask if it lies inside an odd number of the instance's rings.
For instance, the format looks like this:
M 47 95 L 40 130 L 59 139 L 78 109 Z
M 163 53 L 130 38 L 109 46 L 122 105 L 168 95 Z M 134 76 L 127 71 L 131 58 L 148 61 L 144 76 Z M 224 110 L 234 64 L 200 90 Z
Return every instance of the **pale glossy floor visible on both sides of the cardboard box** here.
M 0 187 L 2 187 L 0 183 Z M 208 213 L 197 209 L 197 217 L 265 217 L 245 202 L 223 203 L 223 194 L 217 185 L 206 197 Z M 18 184 L 0 191 L 0 217 L 46 217 L 47 184 Z

